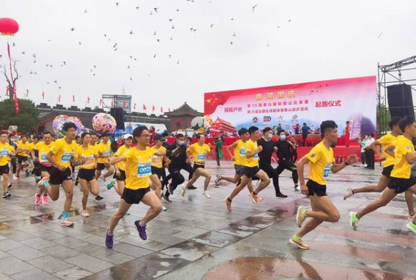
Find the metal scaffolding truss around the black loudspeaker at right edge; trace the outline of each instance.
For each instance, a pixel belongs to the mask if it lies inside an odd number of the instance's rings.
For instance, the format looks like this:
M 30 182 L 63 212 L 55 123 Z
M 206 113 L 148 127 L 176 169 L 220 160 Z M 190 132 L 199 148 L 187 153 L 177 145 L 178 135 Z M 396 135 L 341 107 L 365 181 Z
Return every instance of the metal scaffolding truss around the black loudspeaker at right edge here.
M 402 73 L 406 77 L 402 77 Z M 412 95 L 416 93 L 416 56 L 388 65 L 378 64 L 377 80 L 377 114 L 379 116 L 377 118 L 379 127 L 377 131 L 379 131 L 379 134 L 384 134 L 386 132 L 385 124 L 390 121 L 387 120 L 387 87 L 394 84 L 408 84 L 412 88 Z M 415 106 L 413 109 L 415 109 Z

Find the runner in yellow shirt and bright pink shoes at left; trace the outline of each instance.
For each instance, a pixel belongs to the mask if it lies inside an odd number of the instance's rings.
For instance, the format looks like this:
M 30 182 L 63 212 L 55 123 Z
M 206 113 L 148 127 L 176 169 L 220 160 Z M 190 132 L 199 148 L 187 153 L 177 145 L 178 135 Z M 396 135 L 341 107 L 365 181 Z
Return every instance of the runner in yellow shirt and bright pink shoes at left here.
M 49 151 L 51 150 L 51 146 L 52 146 L 51 133 L 49 131 L 45 131 L 43 133 L 42 139 L 43 139 L 42 142 L 38 142 L 37 144 L 35 144 L 31 153 L 33 157 L 33 162 L 38 162 L 39 164 L 40 176 L 42 178 L 48 178 L 49 180 L 49 178 L 51 177 L 52 165 L 51 165 L 51 162 L 49 162 L 46 159 L 46 155 L 49 153 Z M 35 155 L 36 152 L 37 152 L 37 156 Z M 46 188 L 44 187 L 44 183 L 37 184 L 37 186 L 39 187 L 39 190 L 37 191 L 37 194 L 35 194 L 35 205 L 39 206 L 42 201 L 42 204 L 44 206 L 48 206 L 49 205 L 48 192 Z

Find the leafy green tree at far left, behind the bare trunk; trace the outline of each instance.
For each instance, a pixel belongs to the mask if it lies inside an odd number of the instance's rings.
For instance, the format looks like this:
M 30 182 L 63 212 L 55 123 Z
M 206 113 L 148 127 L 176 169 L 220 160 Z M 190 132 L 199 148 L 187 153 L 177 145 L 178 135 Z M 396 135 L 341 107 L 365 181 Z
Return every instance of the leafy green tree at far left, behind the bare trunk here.
M 15 101 L 13 99 L 0 102 L 0 129 L 8 129 L 10 125 L 16 125 L 19 132 L 33 132 L 37 129 L 40 120 L 35 103 L 31 100 L 19 99 L 19 114 L 15 113 Z

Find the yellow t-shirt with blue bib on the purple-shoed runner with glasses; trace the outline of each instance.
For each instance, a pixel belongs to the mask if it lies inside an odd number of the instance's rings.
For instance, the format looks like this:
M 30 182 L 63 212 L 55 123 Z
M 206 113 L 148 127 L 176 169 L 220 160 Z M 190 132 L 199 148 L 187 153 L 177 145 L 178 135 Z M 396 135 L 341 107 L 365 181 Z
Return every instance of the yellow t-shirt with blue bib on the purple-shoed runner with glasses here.
M 149 187 L 149 177 L 152 175 L 152 156 L 150 147 L 140 151 L 136 147 L 123 153 L 125 156 L 125 187 L 128 189 L 145 189 Z

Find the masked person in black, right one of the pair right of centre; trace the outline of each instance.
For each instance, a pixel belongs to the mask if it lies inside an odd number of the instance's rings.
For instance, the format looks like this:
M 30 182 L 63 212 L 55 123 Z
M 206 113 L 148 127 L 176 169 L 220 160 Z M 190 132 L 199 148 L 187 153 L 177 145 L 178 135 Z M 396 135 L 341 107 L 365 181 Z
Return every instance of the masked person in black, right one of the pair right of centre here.
M 286 133 L 281 131 L 280 139 L 276 142 L 277 147 L 277 158 L 279 158 L 279 166 L 276 168 L 278 175 L 287 169 L 292 171 L 293 183 L 295 184 L 295 192 L 299 191 L 299 185 L 297 184 L 297 168 L 296 165 L 291 161 L 291 149 L 295 150 L 296 147 L 290 141 L 286 140 Z M 274 182 L 275 180 L 273 180 Z M 277 178 L 277 185 L 279 185 L 279 178 Z

